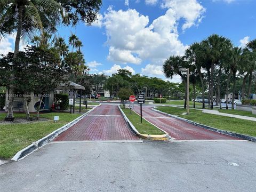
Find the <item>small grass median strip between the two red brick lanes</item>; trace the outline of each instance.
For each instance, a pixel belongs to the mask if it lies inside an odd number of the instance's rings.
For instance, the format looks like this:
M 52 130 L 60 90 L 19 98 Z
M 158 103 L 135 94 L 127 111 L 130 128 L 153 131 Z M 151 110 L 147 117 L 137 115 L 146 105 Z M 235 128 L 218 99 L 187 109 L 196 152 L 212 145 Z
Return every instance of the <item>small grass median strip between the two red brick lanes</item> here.
M 163 131 L 159 130 L 154 125 L 148 123 L 145 119 L 142 119 L 142 123 L 140 123 L 140 116 L 136 114 L 134 111 L 130 113 L 130 109 L 122 109 L 131 121 L 131 123 L 135 126 L 135 128 L 141 133 L 141 134 L 165 134 Z

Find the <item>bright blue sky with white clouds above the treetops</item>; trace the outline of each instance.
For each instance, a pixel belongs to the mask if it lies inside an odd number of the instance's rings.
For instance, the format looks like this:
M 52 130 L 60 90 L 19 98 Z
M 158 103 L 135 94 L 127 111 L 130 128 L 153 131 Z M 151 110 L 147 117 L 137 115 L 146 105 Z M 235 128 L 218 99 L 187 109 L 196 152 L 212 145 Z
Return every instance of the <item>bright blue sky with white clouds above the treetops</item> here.
M 164 61 L 212 34 L 243 47 L 256 38 L 255 7 L 254 0 L 103 0 L 92 26 L 60 26 L 57 35 L 81 39 L 91 74 L 111 75 L 122 68 L 180 82 L 178 76 L 165 78 Z M 13 51 L 14 37 L 1 40 L 0 54 Z

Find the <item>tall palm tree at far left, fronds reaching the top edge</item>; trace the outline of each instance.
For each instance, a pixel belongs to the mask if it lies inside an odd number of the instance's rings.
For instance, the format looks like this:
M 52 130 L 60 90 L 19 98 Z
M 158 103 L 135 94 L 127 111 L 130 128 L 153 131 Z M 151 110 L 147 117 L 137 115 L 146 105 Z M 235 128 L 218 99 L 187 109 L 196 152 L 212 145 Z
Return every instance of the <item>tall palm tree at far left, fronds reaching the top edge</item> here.
M 38 29 L 41 33 L 44 30 L 55 31 L 62 10 L 62 6 L 54 0 L 0 0 L 0 38 L 17 31 L 13 58 L 17 57 L 21 37 L 32 37 Z M 13 94 L 13 89 L 10 85 L 10 94 Z M 13 118 L 13 97 L 10 97 L 6 119 Z

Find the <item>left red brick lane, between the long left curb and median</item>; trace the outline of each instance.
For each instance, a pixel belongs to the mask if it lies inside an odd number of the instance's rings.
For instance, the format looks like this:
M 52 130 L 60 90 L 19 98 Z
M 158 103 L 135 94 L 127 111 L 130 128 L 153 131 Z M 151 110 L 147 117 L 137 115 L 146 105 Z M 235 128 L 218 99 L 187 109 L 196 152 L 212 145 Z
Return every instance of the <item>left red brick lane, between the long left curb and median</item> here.
M 138 140 L 117 106 L 101 105 L 54 141 Z

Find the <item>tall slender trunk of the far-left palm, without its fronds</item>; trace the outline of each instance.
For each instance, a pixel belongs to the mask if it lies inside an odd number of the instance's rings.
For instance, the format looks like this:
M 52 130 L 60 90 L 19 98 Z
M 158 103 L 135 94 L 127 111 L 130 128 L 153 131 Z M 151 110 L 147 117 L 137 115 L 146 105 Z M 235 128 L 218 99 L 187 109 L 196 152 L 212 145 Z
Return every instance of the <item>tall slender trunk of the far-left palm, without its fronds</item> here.
M 20 4 L 19 7 L 19 19 L 18 19 L 18 29 L 17 29 L 17 35 L 15 38 L 15 45 L 14 45 L 14 55 L 13 55 L 13 59 L 17 58 L 17 54 L 19 52 L 19 47 L 20 47 L 20 37 L 21 37 L 21 31 L 22 31 L 22 18 L 23 18 L 23 5 Z M 11 75 L 11 79 L 14 79 L 15 76 L 12 73 Z M 5 120 L 13 120 L 14 119 L 14 115 L 13 115 L 13 95 L 14 95 L 14 87 L 11 84 L 9 87 L 9 100 L 8 100 L 8 110 L 7 110 L 7 116 L 5 118 Z

